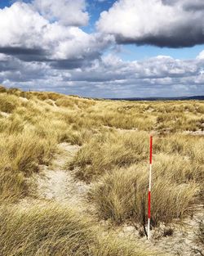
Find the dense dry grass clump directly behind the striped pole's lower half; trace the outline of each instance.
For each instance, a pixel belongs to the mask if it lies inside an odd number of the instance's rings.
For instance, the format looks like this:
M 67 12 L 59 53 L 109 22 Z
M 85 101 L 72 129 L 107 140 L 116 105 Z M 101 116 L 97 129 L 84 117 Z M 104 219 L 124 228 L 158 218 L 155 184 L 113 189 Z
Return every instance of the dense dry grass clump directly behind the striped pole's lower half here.
M 144 225 L 148 212 L 148 172 L 140 166 L 107 173 L 91 191 L 102 218 L 120 224 L 126 220 Z M 197 184 L 177 184 L 163 177 L 153 178 L 152 224 L 184 218 L 197 193 Z

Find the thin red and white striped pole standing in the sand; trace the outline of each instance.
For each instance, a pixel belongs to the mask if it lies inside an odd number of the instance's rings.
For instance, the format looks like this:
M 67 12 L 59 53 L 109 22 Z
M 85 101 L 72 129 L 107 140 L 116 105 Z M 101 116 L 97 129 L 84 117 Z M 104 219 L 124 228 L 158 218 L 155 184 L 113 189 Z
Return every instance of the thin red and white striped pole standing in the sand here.
M 148 240 L 150 239 L 152 162 L 153 162 L 153 136 L 150 136 L 150 145 L 149 145 L 149 192 L 148 192 Z

